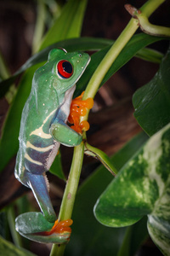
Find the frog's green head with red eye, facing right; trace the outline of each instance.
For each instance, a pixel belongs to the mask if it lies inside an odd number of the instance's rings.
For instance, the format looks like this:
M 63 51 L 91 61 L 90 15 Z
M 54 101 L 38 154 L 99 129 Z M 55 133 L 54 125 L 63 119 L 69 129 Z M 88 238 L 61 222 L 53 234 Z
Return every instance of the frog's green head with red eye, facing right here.
M 48 63 L 53 63 L 53 87 L 59 93 L 70 89 L 88 66 L 90 57 L 86 53 L 71 52 L 65 49 L 52 49 L 48 55 Z

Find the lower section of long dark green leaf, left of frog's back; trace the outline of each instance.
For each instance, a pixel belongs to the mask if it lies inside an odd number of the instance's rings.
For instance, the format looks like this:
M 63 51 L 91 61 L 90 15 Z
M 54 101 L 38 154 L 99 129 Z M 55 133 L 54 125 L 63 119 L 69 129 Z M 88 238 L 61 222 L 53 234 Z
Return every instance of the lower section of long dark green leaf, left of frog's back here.
M 0 140 L 1 166 L 0 171 L 7 165 L 11 157 L 16 154 L 19 147 L 19 130 L 22 108 L 31 90 L 31 80 L 36 67 L 30 67 L 20 81 L 18 93 L 8 110 L 8 115 L 3 124 L 3 133 Z

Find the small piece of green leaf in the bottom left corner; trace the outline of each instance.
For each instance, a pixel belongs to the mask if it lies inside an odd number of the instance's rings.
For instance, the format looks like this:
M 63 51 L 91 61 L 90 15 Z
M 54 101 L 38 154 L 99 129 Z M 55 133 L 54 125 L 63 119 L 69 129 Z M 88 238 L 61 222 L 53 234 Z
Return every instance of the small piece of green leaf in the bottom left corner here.
M 0 236 L 0 252 L 3 256 L 36 256 L 25 249 L 15 247 L 13 243 L 4 240 Z

